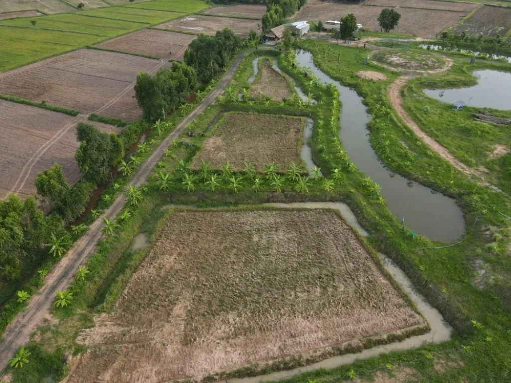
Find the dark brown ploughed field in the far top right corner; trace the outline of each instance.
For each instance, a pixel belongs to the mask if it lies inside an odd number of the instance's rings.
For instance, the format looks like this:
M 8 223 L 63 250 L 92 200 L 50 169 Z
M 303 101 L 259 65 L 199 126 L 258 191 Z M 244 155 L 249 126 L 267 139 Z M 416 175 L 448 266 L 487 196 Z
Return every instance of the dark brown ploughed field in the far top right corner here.
M 511 8 L 482 7 L 456 27 L 455 33 L 469 35 L 503 36 L 511 29 Z

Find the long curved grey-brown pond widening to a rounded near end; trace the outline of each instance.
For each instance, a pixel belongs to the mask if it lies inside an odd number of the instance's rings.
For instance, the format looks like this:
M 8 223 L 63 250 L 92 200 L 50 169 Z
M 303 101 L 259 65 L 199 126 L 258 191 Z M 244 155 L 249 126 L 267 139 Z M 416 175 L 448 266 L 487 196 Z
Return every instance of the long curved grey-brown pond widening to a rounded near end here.
M 299 51 L 296 59 L 310 67 L 316 77 L 339 89 L 342 103 L 340 138 L 344 148 L 358 168 L 381 185 L 388 209 L 417 233 L 434 241 L 452 242 L 465 232 L 463 213 L 453 199 L 433 192 L 420 183 L 391 173 L 378 159 L 369 142 L 367 123 L 370 116 L 357 92 L 333 80 L 319 69 L 310 52 Z

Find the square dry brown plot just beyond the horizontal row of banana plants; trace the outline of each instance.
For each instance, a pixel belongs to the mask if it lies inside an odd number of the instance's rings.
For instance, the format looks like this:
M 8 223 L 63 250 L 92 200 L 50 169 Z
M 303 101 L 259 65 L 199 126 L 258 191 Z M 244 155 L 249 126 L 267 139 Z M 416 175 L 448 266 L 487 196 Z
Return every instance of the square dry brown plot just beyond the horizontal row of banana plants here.
M 229 161 L 235 170 L 241 170 L 246 161 L 263 170 L 270 162 L 300 163 L 302 125 L 299 117 L 225 113 L 213 135 L 204 140 L 193 166 L 198 168 L 201 160 L 213 167 Z

